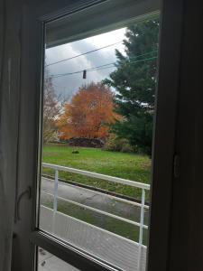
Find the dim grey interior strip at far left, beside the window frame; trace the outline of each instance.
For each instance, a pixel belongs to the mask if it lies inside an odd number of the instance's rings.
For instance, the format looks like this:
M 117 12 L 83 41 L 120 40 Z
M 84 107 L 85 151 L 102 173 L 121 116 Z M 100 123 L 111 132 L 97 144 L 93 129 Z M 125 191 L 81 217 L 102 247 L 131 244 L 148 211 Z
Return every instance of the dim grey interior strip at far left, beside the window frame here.
M 0 1 L 0 270 L 11 268 L 18 161 L 20 9 Z

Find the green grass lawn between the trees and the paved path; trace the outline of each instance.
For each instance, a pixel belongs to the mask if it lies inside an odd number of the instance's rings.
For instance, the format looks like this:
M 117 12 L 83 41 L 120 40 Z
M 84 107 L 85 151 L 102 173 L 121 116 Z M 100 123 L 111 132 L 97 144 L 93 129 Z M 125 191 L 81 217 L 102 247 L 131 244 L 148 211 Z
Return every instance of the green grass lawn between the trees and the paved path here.
M 73 150 L 76 150 L 76 148 L 68 145 L 45 145 L 43 147 L 42 161 L 136 182 L 150 183 L 151 160 L 146 155 L 107 152 L 94 148 L 77 148 L 78 154 L 72 154 Z M 43 173 L 53 175 L 51 169 L 43 169 Z M 65 172 L 60 172 L 60 178 L 85 183 L 110 192 L 125 194 L 139 200 L 141 198 L 140 189 L 119 183 L 106 182 Z M 146 194 L 146 200 L 148 201 L 148 199 L 149 193 Z

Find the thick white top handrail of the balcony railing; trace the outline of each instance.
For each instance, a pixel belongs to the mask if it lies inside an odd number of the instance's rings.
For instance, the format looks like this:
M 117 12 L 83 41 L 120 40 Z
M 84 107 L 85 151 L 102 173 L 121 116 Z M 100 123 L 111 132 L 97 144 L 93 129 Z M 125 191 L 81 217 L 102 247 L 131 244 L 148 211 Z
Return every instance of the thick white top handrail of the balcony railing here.
M 134 182 L 134 181 L 118 178 L 118 177 L 108 176 L 108 175 L 100 174 L 100 173 L 91 173 L 88 171 L 78 170 L 78 169 L 75 169 L 72 167 L 66 167 L 66 166 L 61 166 L 61 165 L 57 165 L 57 164 L 42 163 L 42 166 L 46 167 L 46 168 L 51 168 L 54 170 L 62 171 L 62 172 L 76 173 L 76 174 L 80 174 L 80 175 L 84 175 L 84 176 L 88 176 L 88 177 L 92 177 L 92 178 L 97 178 L 100 180 L 105 180 L 108 182 L 117 182 L 117 183 L 122 183 L 122 184 L 130 185 L 130 186 L 134 186 L 137 188 L 142 188 L 145 190 L 150 190 L 150 184 L 143 183 L 143 182 Z

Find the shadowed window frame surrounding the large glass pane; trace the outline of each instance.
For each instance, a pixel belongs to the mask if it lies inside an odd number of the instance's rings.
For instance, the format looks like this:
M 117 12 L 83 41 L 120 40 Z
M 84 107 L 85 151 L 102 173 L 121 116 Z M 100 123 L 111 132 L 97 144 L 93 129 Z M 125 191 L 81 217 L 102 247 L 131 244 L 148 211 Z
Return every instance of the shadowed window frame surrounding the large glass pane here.
M 109 269 L 104 263 L 84 255 L 79 250 L 61 242 L 58 238 L 51 237 L 49 234 L 39 231 L 36 228 L 36 205 L 39 191 L 37 182 L 39 173 L 40 152 L 38 142 L 41 140 L 41 126 L 39 118 L 42 117 L 42 74 L 43 59 L 42 51 L 44 48 L 44 25 L 53 19 L 67 15 L 77 16 L 95 14 L 104 8 L 106 11 L 106 21 L 99 22 L 95 18 L 95 32 L 106 23 L 119 27 L 119 22 L 131 21 L 134 16 L 140 20 L 143 14 L 154 14 L 158 12 L 160 5 L 157 0 L 106 0 L 106 1 L 77 1 L 73 4 L 67 1 L 40 1 L 23 5 L 23 29 L 22 29 L 22 93 L 21 93 L 21 131 L 19 135 L 19 164 L 18 164 L 18 188 L 17 194 L 23 192 L 28 186 L 32 187 L 32 201 L 23 200 L 20 206 L 21 221 L 16 221 L 14 232 L 16 240 L 14 241 L 13 266 L 14 270 L 35 270 L 36 269 L 36 246 L 42 247 L 53 255 L 67 261 L 70 265 L 78 267 L 80 270 L 113 270 Z M 159 61 L 159 84 L 157 91 L 157 110 L 156 126 L 154 130 L 153 154 L 152 154 L 152 209 L 150 242 L 148 252 L 148 271 L 166 270 L 168 257 L 168 242 L 170 230 L 170 211 L 171 211 L 171 183 L 172 183 L 172 164 L 174 156 L 174 140 L 177 113 L 178 98 L 178 76 L 180 64 L 180 27 L 170 31 L 170 23 L 174 26 L 180 22 L 181 6 L 177 5 L 173 17 L 171 9 L 174 12 L 174 4 L 170 1 L 163 1 L 165 5 L 161 7 L 161 51 Z M 129 4 L 126 8 L 127 4 Z M 123 6 L 123 13 L 119 13 Z M 133 6 L 133 8 L 132 8 Z M 113 13 L 112 7 L 115 7 Z M 81 12 L 82 11 L 82 12 Z M 81 14 L 80 14 L 81 12 Z M 119 14 L 119 15 L 118 15 Z M 86 21 L 84 21 L 86 22 Z M 85 25 L 86 24 L 86 25 Z M 85 29 L 92 25 L 88 20 L 84 23 Z M 74 28 L 73 28 L 74 29 Z M 89 30 L 92 33 L 92 30 Z M 87 33 L 89 33 L 87 31 Z M 171 36 L 175 39 L 171 40 Z M 69 36 L 73 37 L 72 34 Z M 169 50 L 169 42 L 171 48 Z M 39 46 L 41 44 L 41 46 Z M 31 54 L 32 51 L 32 54 Z M 176 58 L 171 55 L 176 53 Z M 31 65 L 32 63 L 32 65 Z M 164 69 L 163 69 L 164 68 Z M 172 78 L 172 80 L 171 80 Z M 170 85 L 168 82 L 170 82 Z M 30 88 L 28 88 L 30 86 Z M 29 90 L 28 90 L 29 89 Z M 32 101 L 32 102 L 31 102 Z M 167 109 L 171 104 L 170 112 Z M 39 116 L 39 112 L 41 112 Z M 167 144 L 166 144 L 167 142 Z M 163 179 L 164 174 L 164 179 Z M 166 187 L 168 187 L 166 191 Z M 164 196 L 161 197 L 161 195 Z M 163 210 L 165 210 L 163 212 Z M 161 229 L 160 220 L 162 219 Z M 157 238 L 159 237 L 159 238 Z M 162 238 L 164 237 L 164 238 Z M 160 249 L 159 256 L 155 251 Z M 160 261 L 161 259 L 161 261 Z

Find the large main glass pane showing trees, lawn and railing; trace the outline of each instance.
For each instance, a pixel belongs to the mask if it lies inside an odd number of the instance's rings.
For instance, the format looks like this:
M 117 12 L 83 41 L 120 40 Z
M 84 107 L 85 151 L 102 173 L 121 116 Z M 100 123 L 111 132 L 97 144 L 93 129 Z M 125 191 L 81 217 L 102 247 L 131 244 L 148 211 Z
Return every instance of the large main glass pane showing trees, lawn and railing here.
M 39 228 L 115 268 L 144 270 L 159 16 L 68 43 L 53 25 Z

